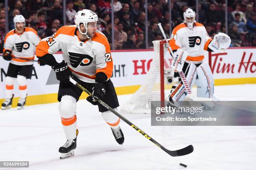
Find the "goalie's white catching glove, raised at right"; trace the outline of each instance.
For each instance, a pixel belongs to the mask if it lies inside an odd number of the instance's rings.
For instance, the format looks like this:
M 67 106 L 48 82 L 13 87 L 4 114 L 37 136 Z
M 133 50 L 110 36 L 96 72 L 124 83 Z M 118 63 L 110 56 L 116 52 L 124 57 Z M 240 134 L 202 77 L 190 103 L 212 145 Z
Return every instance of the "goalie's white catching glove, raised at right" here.
M 227 49 L 231 43 L 230 37 L 222 32 L 214 35 L 213 40 L 208 47 L 214 52 L 221 52 L 223 49 Z

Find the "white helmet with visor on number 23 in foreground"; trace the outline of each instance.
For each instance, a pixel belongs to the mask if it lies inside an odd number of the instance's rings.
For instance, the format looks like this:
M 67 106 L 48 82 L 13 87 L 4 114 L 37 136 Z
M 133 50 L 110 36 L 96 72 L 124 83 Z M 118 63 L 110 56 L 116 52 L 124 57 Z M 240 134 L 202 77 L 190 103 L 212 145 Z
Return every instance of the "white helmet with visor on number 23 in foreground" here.
M 87 24 L 91 22 L 97 21 L 97 28 L 100 27 L 100 22 L 98 20 L 98 16 L 95 12 L 91 10 L 80 10 L 77 12 L 77 14 L 74 17 L 74 22 L 77 25 L 77 28 L 81 34 L 84 34 L 87 38 L 91 38 L 89 35 L 87 35 Z M 83 33 L 80 30 L 80 23 L 82 23 L 85 27 L 86 32 Z

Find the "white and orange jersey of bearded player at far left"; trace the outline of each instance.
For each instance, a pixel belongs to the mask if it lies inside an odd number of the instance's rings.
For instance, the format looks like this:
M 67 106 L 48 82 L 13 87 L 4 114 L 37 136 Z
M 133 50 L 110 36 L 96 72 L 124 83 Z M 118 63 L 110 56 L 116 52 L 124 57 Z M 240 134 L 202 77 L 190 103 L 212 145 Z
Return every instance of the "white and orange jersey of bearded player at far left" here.
M 12 51 L 13 57 L 34 59 L 35 46 L 40 42 L 37 32 L 33 28 L 24 28 L 24 32 L 19 34 L 15 29 L 9 31 L 5 36 L 4 49 Z M 15 65 L 33 65 L 33 61 L 12 58 L 10 63 Z

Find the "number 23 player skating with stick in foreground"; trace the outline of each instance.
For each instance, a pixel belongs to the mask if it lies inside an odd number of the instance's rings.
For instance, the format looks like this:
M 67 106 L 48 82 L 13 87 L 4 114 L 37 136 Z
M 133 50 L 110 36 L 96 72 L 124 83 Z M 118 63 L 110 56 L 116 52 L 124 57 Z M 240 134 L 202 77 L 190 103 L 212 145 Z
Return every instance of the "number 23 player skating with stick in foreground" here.
M 115 110 L 119 106 L 115 88 L 110 80 L 113 71 L 110 45 L 105 35 L 97 30 L 100 26 L 97 14 L 91 10 L 80 10 L 75 15 L 74 23 L 76 25 L 59 28 L 54 35 L 41 40 L 36 48 L 38 60 L 50 65 L 60 81 L 59 114 L 67 138 L 67 142 L 59 148 L 61 159 L 74 155 L 77 145 L 76 102 L 82 90 L 69 82 L 70 75 L 91 90 L 93 97 L 87 97 L 87 100 L 93 105 L 98 104 L 97 99 L 102 99 Z M 58 63 L 53 54 L 60 48 L 63 61 Z M 120 118 L 100 104 L 98 108 L 103 119 L 110 125 L 115 140 L 120 145 L 123 144 Z

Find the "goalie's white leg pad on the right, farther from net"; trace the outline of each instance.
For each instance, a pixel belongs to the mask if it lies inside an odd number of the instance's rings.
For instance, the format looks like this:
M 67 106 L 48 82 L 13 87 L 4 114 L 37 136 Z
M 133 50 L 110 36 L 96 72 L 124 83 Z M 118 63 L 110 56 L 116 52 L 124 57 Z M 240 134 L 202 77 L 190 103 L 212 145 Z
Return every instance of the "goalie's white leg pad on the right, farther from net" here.
M 214 78 L 207 62 L 202 62 L 197 67 L 197 76 L 198 79 L 195 83 L 197 85 L 197 97 L 210 98 L 214 92 Z

